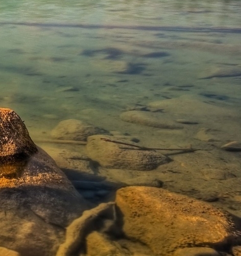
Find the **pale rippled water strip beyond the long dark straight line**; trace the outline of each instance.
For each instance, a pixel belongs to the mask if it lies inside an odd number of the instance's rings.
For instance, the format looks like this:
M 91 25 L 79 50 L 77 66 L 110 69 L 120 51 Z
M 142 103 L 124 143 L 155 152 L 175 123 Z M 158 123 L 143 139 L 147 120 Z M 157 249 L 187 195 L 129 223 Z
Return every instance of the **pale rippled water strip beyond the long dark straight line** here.
M 1 19 L 183 26 L 240 24 L 238 1 L 1 1 Z

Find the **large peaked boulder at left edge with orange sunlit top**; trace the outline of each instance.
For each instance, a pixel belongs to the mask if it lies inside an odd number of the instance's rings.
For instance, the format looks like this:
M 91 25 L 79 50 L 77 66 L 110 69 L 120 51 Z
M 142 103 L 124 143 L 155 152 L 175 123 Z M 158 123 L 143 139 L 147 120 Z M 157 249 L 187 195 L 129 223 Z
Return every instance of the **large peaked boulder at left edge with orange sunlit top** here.
M 0 109 L 0 246 L 25 256 L 55 255 L 64 228 L 86 208 L 20 117 Z

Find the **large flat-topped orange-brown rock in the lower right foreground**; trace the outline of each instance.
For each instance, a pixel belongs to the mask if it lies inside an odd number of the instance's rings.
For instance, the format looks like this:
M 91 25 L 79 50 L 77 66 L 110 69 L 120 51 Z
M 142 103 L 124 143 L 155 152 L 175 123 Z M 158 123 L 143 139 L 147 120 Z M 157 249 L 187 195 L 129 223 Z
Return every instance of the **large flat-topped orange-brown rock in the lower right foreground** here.
M 126 236 L 155 255 L 170 256 L 184 247 L 229 248 L 238 236 L 228 212 L 162 188 L 121 188 L 116 205 Z

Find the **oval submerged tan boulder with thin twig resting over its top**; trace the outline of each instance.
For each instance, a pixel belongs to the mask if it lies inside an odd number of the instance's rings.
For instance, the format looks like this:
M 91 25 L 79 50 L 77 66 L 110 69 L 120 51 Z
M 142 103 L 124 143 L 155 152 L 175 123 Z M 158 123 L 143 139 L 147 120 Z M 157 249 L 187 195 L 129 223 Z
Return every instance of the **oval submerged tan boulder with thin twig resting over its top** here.
M 113 137 L 106 135 L 89 136 L 86 148 L 88 157 L 99 162 L 103 167 L 152 170 L 160 164 L 170 162 L 168 157 L 156 151 L 139 150 L 132 146 L 107 142 L 102 140 L 102 137 L 113 139 Z

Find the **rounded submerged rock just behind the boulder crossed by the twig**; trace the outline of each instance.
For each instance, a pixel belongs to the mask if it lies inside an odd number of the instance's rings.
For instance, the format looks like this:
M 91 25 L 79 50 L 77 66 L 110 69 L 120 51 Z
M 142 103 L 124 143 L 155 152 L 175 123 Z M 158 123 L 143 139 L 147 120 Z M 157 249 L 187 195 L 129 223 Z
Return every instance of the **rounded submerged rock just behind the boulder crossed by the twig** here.
M 77 119 L 63 120 L 51 132 L 54 139 L 80 141 L 86 141 L 88 136 L 94 134 L 109 134 L 109 132 Z

